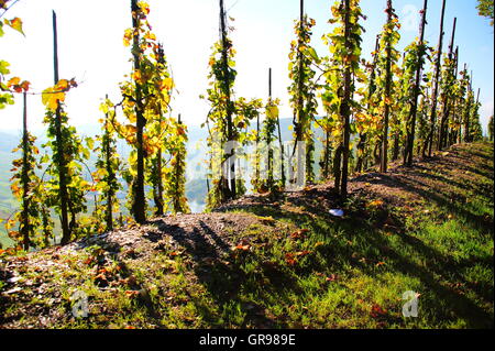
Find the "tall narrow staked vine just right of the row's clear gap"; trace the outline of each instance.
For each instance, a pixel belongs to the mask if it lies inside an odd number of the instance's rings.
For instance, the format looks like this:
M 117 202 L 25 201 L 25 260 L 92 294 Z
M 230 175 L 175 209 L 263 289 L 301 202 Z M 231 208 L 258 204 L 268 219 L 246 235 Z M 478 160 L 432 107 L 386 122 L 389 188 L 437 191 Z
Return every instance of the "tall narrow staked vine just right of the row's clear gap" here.
M 233 20 L 233 19 L 232 19 Z M 235 50 L 229 39 L 229 26 L 220 0 L 220 40 L 213 44 L 209 61 L 209 88 L 206 96 L 211 108 L 202 125 L 208 127 L 209 175 L 212 186 L 208 191 L 208 208 L 211 209 L 245 193 L 245 186 L 238 167 L 242 147 L 250 141 L 248 128 L 258 116 L 261 100 L 248 101 L 234 98 Z

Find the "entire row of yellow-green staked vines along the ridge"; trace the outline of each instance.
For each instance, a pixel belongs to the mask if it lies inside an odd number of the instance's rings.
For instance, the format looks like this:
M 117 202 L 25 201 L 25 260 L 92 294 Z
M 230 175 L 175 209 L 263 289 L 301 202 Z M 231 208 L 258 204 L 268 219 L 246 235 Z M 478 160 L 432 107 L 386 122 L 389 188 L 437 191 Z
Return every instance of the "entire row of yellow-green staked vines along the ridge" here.
M 220 37 L 209 61 L 209 87 L 200 97 L 210 105 L 204 124 L 209 132 L 209 209 L 246 193 L 239 160 L 246 157 L 248 145 L 255 145 L 251 175 L 254 191 L 277 196 L 301 179 L 304 186 L 332 180 L 344 200 L 353 173 L 373 167 L 387 172 L 389 162 L 399 158 L 410 166 L 415 156 L 431 156 L 435 150 L 482 138 L 480 90 L 475 98 L 472 74 L 466 65 L 460 68 L 455 21 L 449 48 L 443 52 L 446 0 L 437 48 L 425 40 L 425 0 L 419 35 L 404 53 L 397 50 L 400 19 L 393 1 L 384 0 L 386 22 L 370 62 L 362 58 L 366 17 L 359 0 L 339 0 L 331 7 L 329 23 L 333 30 L 322 37 L 328 47 L 326 56 L 311 46 L 316 22 L 305 13 L 300 0 L 289 53 L 288 92 L 294 112 L 290 147 L 282 140 L 280 100 L 272 97 L 271 88 L 265 101 L 235 96 L 235 50 L 229 36 L 232 19 L 223 0 L 219 1 Z M 0 0 L 0 18 L 14 2 Z M 23 136 L 15 150 L 21 157 L 13 162 L 11 179 L 20 209 L 6 221 L 19 249 L 53 244 L 57 231 L 61 243 L 66 244 L 124 222 L 144 223 L 152 213 L 189 211 L 185 196 L 187 128 L 180 114 L 173 112 L 174 78 L 148 13 L 145 2 L 131 0 L 132 26 L 123 42 L 130 48 L 132 70 L 120 84 L 120 101 L 107 97 L 101 105 L 97 140 L 80 138 L 65 112 L 65 97 L 69 90 L 77 90 L 77 81 L 58 77 L 55 13 L 54 86 L 31 91 L 30 83 L 10 77 L 9 64 L 0 61 L 0 109 L 13 103 L 14 94 L 24 97 Z M 23 34 L 19 18 L 3 19 L 0 36 L 6 25 Z M 48 141 L 43 151 L 29 132 L 30 95 L 41 96 L 46 108 Z M 118 139 L 132 150 L 128 160 L 117 152 Z M 317 149 L 317 142 L 322 147 Z M 92 168 L 91 154 L 98 157 Z M 123 216 L 120 208 L 123 184 L 128 185 L 130 216 Z M 94 202 L 90 213 L 89 198 Z

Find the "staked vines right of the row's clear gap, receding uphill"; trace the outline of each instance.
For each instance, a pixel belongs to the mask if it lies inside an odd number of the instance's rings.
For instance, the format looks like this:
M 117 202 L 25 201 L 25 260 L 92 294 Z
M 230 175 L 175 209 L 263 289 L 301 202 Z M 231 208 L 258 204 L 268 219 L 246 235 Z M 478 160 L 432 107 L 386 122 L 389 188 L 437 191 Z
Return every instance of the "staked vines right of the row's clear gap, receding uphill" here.
M 278 119 L 280 101 L 272 99 L 271 94 L 265 103 L 233 99 L 235 51 L 220 1 L 221 39 L 210 61 L 211 110 L 206 122 L 212 153 L 210 208 L 245 193 L 242 175 L 235 172 L 235 160 L 250 143 L 256 145 L 251 180 L 255 190 L 276 195 L 292 183 L 305 186 L 332 179 L 344 200 L 352 173 L 373 167 L 387 172 L 389 162 L 399 158 L 411 166 L 415 156 L 431 157 L 435 150 L 482 139 L 480 90 L 475 98 L 472 73 L 465 64 L 463 69 L 459 67 L 457 19 L 449 48 L 443 51 L 446 4 L 443 0 L 438 46 L 433 48 L 425 40 L 425 0 L 418 37 L 400 53 L 400 21 L 393 1 L 386 0 L 386 22 L 367 62 L 361 50 L 366 17 L 359 0 L 339 0 L 331 7 L 329 23 L 333 31 L 322 37 L 329 51 L 326 56 L 319 56 L 311 46 L 316 21 L 305 13 L 300 0 L 300 18 L 295 22 L 296 39 L 289 53 L 294 146 L 284 150 Z M 322 116 L 318 107 L 324 110 Z M 254 121 L 256 128 L 250 129 Z M 316 153 L 317 139 L 322 145 L 320 154 Z M 261 141 L 265 147 L 257 147 Z M 226 147 L 228 142 L 231 144 Z M 273 158 L 275 152 L 282 158 L 278 163 Z M 266 158 L 264 177 L 260 177 L 260 154 Z M 320 166 L 319 179 L 316 164 Z M 274 167 L 279 167 L 278 179 L 273 178 Z

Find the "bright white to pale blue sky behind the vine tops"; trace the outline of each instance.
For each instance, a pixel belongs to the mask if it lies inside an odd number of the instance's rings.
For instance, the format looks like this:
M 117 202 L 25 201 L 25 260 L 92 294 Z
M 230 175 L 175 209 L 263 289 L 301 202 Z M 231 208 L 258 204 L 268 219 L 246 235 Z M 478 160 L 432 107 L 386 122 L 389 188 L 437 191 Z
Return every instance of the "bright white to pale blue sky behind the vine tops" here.
M 174 74 L 179 95 L 173 108 L 188 124 L 205 121 L 208 103 L 199 99 L 207 89 L 208 58 L 211 45 L 218 40 L 218 0 L 148 0 L 150 22 Z M 422 0 L 394 0 L 403 23 L 400 48 L 418 35 L 418 14 Z M 474 87 L 482 89 L 482 122 L 493 113 L 493 28 L 477 15 L 476 0 L 448 0 L 446 12 L 446 44 L 450 42 L 453 17 L 458 17 L 457 45 L 460 63 L 468 63 L 474 72 Z M 312 45 L 320 55 L 328 48 L 321 35 L 329 32 L 332 0 L 306 0 L 306 12 L 317 25 Z M 375 36 L 385 21 L 385 0 L 362 0 L 363 54 L 369 57 Z M 290 117 L 288 107 L 288 52 L 294 39 L 294 20 L 299 12 L 298 0 L 226 0 L 233 45 L 238 51 L 237 96 L 266 98 L 267 72 L 273 68 L 273 95 L 282 99 L 282 117 Z M 426 39 L 437 46 L 441 0 L 430 0 Z M 70 122 L 78 127 L 96 124 L 99 103 L 106 94 L 120 101 L 118 84 L 131 69 L 129 47 L 122 44 L 123 32 L 131 26 L 129 0 L 21 0 L 6 15 L 20 17 L 25 37 L 6 29 L 0 40 L 0 58 L 11 64 L 12 75 L 32 83 L 33 91 L 53 85 L 52 9 L 58 18 L 61 78 L 76 77 L 80 83 L 66 99 Z M 0 111 L 0 130 L 21 129 L 22 105 Z M 34 129 L 42 128 L 44 108 L 41 97 L 29 98 L 29 119 Z

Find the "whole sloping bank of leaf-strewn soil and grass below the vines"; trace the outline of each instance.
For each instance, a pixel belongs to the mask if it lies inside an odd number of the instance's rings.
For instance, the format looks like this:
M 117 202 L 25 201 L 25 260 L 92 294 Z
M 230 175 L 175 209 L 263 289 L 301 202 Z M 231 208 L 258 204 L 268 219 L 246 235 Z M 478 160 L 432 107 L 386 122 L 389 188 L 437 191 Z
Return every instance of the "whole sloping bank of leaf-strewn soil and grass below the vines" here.
M 343 217 L 322 184 L 3 256 L 0 326 L 493 328 L 493 145 L 455 145 L 354 178 Z

